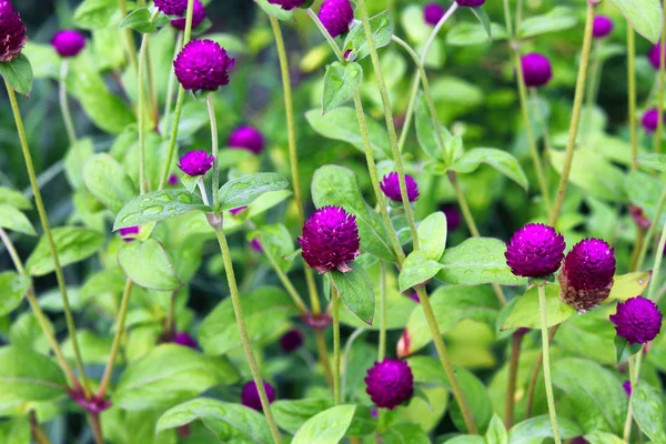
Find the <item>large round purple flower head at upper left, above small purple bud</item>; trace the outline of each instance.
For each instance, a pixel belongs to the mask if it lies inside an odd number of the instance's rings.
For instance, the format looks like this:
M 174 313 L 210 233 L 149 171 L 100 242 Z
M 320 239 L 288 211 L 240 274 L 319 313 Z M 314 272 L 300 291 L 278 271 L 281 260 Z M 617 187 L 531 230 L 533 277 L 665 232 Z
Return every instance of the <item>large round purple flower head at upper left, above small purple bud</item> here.
M 175 77 L 188 91 L 214 91 L 229 83 L 234 59 L 212 40 L 193 40 L 173 61 Z

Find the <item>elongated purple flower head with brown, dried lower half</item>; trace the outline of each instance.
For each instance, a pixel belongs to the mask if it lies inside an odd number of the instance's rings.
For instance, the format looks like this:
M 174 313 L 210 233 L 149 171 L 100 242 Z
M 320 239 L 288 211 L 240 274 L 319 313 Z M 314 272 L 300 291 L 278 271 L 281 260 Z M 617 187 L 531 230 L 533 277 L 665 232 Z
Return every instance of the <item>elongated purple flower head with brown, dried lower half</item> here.
M 615 275 L 615 250 L 601 239 L 584 239 L 564 258 L 559 297 L 583 313 L 608 297 Z

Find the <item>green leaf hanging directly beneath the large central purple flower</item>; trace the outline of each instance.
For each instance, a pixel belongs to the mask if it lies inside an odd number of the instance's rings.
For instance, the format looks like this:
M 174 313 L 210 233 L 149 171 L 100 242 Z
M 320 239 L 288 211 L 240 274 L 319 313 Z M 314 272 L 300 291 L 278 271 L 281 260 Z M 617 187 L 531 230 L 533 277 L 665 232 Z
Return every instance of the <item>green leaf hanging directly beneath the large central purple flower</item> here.
M 330 272 L 331 280 L 347 309 L 363 322 L 372 325 L 375 306 L 372 283 L 360 264 L 351 263 L 350 268 L 352 270 L 346 273 L 332 270 Z

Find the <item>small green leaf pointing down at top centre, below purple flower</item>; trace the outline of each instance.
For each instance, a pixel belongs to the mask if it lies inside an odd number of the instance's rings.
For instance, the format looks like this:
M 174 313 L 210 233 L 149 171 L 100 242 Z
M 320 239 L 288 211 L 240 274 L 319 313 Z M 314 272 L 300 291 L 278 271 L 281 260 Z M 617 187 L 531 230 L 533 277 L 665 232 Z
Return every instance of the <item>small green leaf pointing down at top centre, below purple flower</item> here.
M 326 67 L 322 114 L 342 107 L 359 90 L 363 81 L 363 68 L 359 63 L 333 62 Z

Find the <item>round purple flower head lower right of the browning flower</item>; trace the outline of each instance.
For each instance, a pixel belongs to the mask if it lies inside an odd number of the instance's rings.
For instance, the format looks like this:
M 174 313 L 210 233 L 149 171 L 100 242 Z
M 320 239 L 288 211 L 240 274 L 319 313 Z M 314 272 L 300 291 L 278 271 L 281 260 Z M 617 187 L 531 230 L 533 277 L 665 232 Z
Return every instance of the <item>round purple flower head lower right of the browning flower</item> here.
M 617 312 L 610 315 L 617 335 L 629 344 L 650 342 L 662 330 L 662 313 L 653 301 L 636 296 L 617 304 Z

